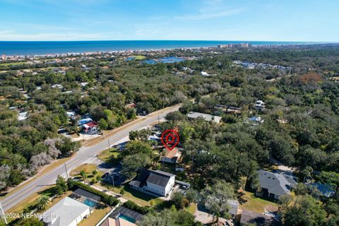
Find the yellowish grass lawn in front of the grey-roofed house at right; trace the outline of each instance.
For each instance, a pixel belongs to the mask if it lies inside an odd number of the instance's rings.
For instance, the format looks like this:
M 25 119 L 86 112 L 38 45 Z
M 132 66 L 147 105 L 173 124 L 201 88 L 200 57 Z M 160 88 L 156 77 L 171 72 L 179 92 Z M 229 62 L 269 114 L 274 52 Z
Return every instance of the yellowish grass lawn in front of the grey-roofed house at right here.
M 277 203 L 267 201 L 262 198 L 257 198 L 253 193 L 248 191 L 240 191 L 238 194 L 240 208 L 252 210 L 256 213 L 263 213 L 265 208 L 278 208 Z

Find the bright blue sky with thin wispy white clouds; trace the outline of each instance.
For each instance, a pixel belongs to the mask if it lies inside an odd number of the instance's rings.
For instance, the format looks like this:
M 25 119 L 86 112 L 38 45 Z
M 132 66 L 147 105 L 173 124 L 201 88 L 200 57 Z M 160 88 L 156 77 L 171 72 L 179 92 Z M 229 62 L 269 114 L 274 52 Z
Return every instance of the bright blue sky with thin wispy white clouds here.
M 339 42 L 338 0 L 0 0 L 0 40 Z

